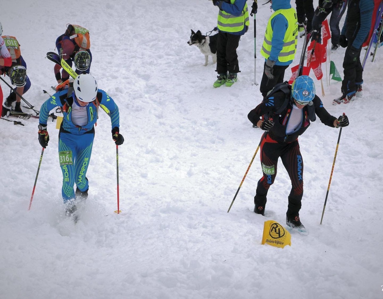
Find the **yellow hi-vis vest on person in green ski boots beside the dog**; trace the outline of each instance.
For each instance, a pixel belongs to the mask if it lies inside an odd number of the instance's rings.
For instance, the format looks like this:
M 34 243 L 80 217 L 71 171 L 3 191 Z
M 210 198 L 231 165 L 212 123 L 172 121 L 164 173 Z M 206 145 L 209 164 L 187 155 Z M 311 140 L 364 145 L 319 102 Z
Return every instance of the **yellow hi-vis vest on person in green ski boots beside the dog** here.
M 230 0 L 231 4 L 234 4 L 236 0 Z M 244 25 L 249 26 L 249 11 L 247 10 L 247 3 L 241 15 L 233 16 L 223 10 L 219 10 L 218 13 L 218 29 L 226 32 L 239 32 L 242 31 Z

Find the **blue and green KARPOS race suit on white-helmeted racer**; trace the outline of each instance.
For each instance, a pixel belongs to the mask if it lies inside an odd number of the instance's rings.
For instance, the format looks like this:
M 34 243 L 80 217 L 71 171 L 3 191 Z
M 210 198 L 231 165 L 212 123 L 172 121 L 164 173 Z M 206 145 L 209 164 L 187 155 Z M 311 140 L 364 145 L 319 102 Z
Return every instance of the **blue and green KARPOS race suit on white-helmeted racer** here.
M 98 89 L 97 100 L 109 109 L 111 127 L 119 128 L 119 111 L 115 101 L 101 89 Z M 59 131 L 59 163 L 62 171 L 64 203 L 75 198 L 74 184 L 80 191 L 86 191 L 89 188 L 85 175 L 92 155 L 94 124 L 98 113 L 97 102 L 88 103 L 87 124 L 76 126 L 72 122 L 72 105 L 77 105 L 73 103 L 74 101 L 76 101 L 74 93 L 68 96 L 67 89 L 58 91 L 43 103 L 39 116 L 39 123 L 47 124 L 49 111 L 56 107 L 63 110 L 63 120 Z

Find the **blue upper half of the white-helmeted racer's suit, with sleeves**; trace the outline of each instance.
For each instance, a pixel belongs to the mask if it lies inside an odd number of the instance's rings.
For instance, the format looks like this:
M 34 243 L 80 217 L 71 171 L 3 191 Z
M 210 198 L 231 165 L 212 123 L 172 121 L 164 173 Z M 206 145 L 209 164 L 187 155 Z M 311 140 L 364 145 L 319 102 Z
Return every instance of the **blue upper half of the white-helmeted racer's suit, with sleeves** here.
M 48 100 L 46 100 L 43 103 L 43 105 L 41 105 L 39 123 L 47 124 L 49 111 L 51 111 L 52 109 L 56 107 L 62 108 L 65 104 L 67 104 L 66 111 L 63 111 L 61 129 L 75 135 L 82 135 L 91 131 L 93 129 L 94 124 L 97 121 L 96 106 L 93 104 L 93 102 L 89 103 L 86 106 L 87 114 L 88 114 L 88 123 L 82 127 L 75 126 L 74 123 L 72 122 L 72 107 L 71 107 L 73 101 L 75 100 L 75 96 L 74 96 L 74 93 L 72 93 L 72 96 L 69 99 L 67 99 L 67 93 L 68 93 L 67 89 L 58 91 L 54 93 Z M 104 105 L 106 108 L 110 110 L 110 120 L 112 124 L 112 129 L 114 127 L 119 127 L 119 112 L 118 112 L 118 106 L 116 105 L 115 101 L 113 101 L 113 99 L 105 91 L 101 89 L 98 89 L 97 99 L 100 104 Z M 72 102 L 72 103 L 69 103 L 69 102 Z M 98 113 L 103 113 L 101 112 L 102 108 L 99 107 L 98 110 L 99 110 Z

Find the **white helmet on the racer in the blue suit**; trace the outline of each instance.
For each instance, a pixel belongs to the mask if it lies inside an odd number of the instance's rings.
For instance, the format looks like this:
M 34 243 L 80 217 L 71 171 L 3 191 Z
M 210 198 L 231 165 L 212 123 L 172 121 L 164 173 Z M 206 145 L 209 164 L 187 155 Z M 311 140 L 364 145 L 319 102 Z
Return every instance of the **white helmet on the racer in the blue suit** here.
M 80 74 L 74 79 L 73 89 L 77 99 L 90 103 L 97 96 L 97 81 L 91 74 Z

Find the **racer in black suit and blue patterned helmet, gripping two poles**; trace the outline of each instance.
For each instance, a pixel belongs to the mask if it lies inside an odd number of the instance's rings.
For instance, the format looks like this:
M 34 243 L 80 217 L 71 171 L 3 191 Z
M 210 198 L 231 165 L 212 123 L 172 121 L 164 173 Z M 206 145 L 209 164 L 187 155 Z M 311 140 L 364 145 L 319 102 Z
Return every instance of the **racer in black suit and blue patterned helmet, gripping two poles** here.
M 264 115 L 267 117 L 262 120 Z M 277 175 L 280 157 L 292 186 L 288 196 L 286 224 L 301 233 L 305 233 L 306 228 L 299 217 L 303 196 L 303 157 L 298 136 L 310 126 L 310 121 L 316 120 L 316 115 L 329 127 L 349 125 L 346 115 L 337 119 L 327 112 L 321 99 L 315 94 L 313 79 L 306 75 L 296 78 L 287 93 L 272 90 L 264 101 L 247 115 L 253 126 L 266 131 L 260 142 L 263 176 L 257 184 L 254 212 L 262 215 L 265 213 L 267 192 Z

